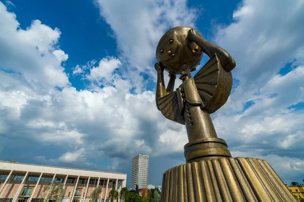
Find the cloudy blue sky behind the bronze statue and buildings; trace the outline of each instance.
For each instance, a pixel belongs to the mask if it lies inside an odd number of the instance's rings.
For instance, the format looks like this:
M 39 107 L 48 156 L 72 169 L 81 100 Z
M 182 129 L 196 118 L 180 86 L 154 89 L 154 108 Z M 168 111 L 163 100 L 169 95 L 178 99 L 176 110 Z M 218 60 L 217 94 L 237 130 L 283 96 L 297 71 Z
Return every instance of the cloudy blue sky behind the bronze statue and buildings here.
M 129 185 L 131 159 L 144 152 L 148 182 L 160 185 L 184 163 L 187 136 L 155 106 L 155 49 L 168 29 L 189 25 L 237 63 L 232 94 L 212 114 L 218 136 L 234 157 L 265 159 L 283 181 L 301 181 L 303 7 L 0 1 L 0 159 L 124 172 Z

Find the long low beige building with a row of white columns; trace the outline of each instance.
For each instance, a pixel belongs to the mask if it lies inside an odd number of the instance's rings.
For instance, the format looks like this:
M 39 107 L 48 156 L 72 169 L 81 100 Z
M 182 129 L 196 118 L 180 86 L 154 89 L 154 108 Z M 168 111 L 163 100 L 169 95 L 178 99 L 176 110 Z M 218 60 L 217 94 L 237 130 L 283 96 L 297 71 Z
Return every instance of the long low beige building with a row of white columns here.
M 89 202 L 98 185 L 106 202 L 111 189 L 126 186 L 127 174 L 0 161 L 0 202 L 43 202 L 50 181 L 64 184 L 63 202 Z

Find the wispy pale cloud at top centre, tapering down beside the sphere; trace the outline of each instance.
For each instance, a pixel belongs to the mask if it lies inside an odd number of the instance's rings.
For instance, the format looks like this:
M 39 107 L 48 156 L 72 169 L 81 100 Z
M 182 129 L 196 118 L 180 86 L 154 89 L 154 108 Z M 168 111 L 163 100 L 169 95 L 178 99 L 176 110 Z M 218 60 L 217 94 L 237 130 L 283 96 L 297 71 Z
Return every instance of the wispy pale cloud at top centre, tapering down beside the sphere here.
M 110 25 L 121 51 L 120 59 L 128 68 L 121 69 L 131 79 L 136 92 L 145 84 L 139 73 L 155 77 L 155 51 L 161 36 L 171 27 L 195 26 L 197 10 L 184 0 L 95 0 L 100 15 Z M 123 20 L 122 20 L 123 19 Z M 155 79 L 155 78 L 154 78 Z

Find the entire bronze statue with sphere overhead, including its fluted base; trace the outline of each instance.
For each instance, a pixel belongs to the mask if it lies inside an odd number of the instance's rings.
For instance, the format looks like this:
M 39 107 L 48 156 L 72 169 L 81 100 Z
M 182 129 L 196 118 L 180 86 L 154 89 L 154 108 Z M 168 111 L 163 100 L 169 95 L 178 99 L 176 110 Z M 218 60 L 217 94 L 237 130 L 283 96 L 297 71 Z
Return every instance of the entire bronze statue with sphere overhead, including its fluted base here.
M 210 60 L 192 77 L 203 53 Z M 232 158 L 217 137 L 210 114 L 230 95 L 234 59 L 188 26 L 167 31 L 156 57 L 156 105 L 167 119 L 185 125 L 189 140 L 186 164 L 164 173 L 161 201 L 296 201 L 267 162 Z M 182 84 L 174 91 L 176 74 Z

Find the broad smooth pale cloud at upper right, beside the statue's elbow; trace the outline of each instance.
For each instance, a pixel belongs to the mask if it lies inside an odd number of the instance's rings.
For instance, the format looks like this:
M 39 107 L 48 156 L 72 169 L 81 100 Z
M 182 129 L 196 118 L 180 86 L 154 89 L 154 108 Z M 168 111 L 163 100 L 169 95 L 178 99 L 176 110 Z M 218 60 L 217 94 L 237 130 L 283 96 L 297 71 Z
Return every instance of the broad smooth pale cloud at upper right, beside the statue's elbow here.
M 284 65 L 304 47 L 303 1 L 243 1 L 234 12 L 234 22 L 219 28 L 216 42 L 235 58 L 234 78 L 240 86 L 225 109 L 242 111 Z

